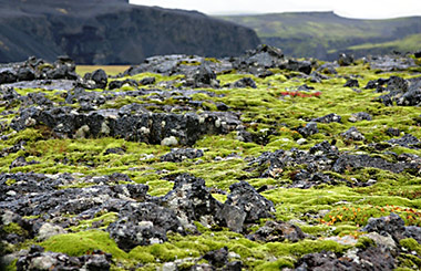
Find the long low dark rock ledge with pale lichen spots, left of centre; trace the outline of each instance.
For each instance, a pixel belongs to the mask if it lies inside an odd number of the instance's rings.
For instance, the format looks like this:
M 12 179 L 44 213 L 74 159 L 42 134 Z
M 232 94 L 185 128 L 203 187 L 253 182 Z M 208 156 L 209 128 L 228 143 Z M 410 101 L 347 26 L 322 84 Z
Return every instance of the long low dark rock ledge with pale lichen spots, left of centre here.
M 127 114 L 122 107 L 121 111 L 101 110 L 83 114 L 63 106 L 51 110 L 25 108 L 13 118 L 10 126 L 16 131 L 24 129 L 28 119 L 47 125 L 61 137 L 75 137 L 76 132 L 84 127 L 84 137 L 113 136 L 150 144 L 161 144 L 163 139 L 174 137 L 182 145 L 193 145 L 205 134 L 226 134 L 240 124 L 238 116 L 228 112 L 181 115 L 145 113 L 141 108 L 136 114 Z

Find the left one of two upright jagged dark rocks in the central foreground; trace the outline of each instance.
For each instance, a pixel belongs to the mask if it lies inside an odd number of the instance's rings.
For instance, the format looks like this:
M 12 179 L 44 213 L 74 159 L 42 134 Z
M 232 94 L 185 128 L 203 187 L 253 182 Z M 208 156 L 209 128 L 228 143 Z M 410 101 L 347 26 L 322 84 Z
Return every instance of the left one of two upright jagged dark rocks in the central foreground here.
M 195 228 L 193 221 L 205 225 L 214 223 L 214 216 L 220 210 L 217 201 L 205 180 L 188 174 L 178 175 L 174 179 L 174 187 L 162 199 L 163 206 L 172 209 L 184 227 Z

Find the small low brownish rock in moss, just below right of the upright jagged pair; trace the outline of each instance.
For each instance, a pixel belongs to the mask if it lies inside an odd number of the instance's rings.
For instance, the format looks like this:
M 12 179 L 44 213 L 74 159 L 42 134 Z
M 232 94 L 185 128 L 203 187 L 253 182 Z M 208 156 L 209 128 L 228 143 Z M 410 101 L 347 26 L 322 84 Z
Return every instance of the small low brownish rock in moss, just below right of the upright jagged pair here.
M 247 236 L 253 241 L 261 242 L 283 242 L 286 239 L 290 242 L 298 242 L 305 237 L 299 227 L 283 221 L 267 221 L 255 233 Z

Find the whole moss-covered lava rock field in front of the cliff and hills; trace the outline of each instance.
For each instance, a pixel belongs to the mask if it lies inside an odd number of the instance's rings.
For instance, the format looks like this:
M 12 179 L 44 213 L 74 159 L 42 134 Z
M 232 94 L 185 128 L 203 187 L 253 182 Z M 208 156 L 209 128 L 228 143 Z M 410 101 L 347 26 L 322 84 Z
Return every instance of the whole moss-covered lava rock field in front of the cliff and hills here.
M 8 270 L 421 268 L 421 60 L 0 66 Z

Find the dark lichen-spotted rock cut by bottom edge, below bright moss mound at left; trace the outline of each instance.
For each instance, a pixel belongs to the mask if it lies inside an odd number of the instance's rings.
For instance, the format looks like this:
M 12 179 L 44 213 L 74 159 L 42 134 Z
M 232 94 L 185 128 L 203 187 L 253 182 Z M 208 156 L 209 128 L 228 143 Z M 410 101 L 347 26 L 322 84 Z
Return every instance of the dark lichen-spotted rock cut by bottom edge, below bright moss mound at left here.
M 32 246 L 28 254 L 17 261 L 17 270 L 110 270 L 112 256 L 95 250 L 92 254 L 69 257 L 64 253 L 44 252 L 39 246 Z

